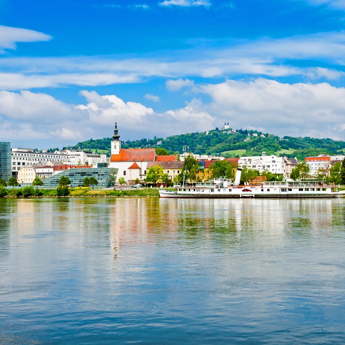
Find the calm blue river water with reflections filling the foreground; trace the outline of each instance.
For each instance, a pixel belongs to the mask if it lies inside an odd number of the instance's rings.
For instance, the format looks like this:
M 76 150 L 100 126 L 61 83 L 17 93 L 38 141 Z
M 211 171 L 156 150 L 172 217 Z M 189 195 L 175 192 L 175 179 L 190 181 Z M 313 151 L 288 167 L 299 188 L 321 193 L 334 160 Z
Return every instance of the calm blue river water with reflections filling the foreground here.
M 0 199 L 1 344 L 344 344 L 345 200 Z

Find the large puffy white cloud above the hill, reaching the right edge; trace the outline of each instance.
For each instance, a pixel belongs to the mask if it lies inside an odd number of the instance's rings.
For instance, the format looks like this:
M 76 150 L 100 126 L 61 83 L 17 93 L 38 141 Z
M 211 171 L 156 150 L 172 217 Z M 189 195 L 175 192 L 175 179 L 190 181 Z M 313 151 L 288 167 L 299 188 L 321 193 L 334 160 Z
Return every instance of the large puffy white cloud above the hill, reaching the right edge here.
M 344 88 L 263 78 L 198 87 L 212 98 L 205 110 L 234 128 L 262 128 L 281 136 L 345 138 Z

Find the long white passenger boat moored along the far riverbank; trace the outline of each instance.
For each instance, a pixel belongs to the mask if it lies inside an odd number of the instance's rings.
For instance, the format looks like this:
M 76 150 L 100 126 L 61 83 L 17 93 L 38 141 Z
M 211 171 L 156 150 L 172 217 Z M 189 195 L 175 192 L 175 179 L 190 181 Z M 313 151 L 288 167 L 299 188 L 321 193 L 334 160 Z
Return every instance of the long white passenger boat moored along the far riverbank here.
M 175 190 L 160 190 L 161 198 L 335 198 L 345 191 L 324 181 L 274 181 L 236 185 L 226 178 L 197 182 L 195 186 L 174 184 Z

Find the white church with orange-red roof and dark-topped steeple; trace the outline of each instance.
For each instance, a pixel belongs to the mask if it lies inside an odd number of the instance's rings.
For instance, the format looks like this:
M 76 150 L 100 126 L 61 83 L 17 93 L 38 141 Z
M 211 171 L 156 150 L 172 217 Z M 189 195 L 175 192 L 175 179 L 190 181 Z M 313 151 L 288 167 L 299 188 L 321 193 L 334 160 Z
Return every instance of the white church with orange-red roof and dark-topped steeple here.
M 154 148 L 121 148 L 117 123 L 112 138 L 109 167 L 117 168 L 117 180 L 124 177 L 127 184 L 133 184 L 137 178 L 144 181 L 148 162 L 176 161 L 176 156 L 157 156 Z

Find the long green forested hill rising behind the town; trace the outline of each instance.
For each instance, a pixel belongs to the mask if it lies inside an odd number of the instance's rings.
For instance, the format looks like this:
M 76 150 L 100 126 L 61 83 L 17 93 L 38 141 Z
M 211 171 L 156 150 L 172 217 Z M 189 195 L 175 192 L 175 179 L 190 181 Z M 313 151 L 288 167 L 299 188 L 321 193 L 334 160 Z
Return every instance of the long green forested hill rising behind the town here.
M 254 136 L 253 136 L 254 134 Z M 257 137 L 255 136 L 257 134 Z M 263 151 L 267 154 L 277 154 L 280 156 L 297 157 L 304 159 L 307 156 L 317 156 L 323 154 L 344 154 L 345 142 L 317 138 L 279 138 L 272 134 L 261 132 L 238 130 L 219 131 L 211 130 L 203 133 L 187 133 L 178 136 L 164 138 L 140 139 L 122 142 L 122 148 L 146 148 L 163 147 L 171 154 L 182 153 L 185 148 L 189 152 L 196 154 L 222 154 L 225 157 L 236 156 L 255 156 L 261 155 Z M 110 142 L 112 138 L 90 139 L 78 142 L 69 148 L 91 149 L 92 151 L 102 152 L 106 150 L 110 153 Z M 104 152 L 105 153 L 105 152 Z

